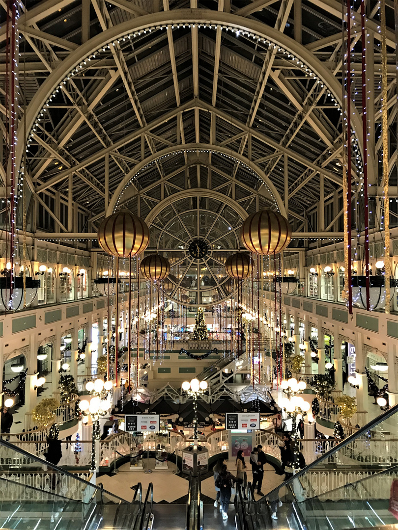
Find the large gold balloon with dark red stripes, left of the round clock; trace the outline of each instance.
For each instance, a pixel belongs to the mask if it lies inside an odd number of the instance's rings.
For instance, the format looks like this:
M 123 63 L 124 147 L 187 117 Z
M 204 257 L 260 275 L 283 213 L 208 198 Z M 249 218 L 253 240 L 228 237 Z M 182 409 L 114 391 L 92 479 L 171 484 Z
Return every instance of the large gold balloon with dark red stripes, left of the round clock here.
M 103 219 L 98 228 L 98 243 L 113 256 L 135 256 L 148 246 L 149 228 L 140 217 L 121 210 Z

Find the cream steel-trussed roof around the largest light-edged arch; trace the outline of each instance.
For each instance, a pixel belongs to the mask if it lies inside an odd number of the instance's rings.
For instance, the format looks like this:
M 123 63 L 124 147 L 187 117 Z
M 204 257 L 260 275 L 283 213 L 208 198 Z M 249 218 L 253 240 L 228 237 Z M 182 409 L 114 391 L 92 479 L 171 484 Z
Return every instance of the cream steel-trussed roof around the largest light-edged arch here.
M 377 5 L 367 6 L 373 43 L 369 57 L 376 64 L 371 117 L 376 128 Z M 387 10 L 392 15 L 388 2 Z M 19 85 L 20 118 L 25 114 L 27 120 L 19 128 L 20 160 L 24 134 L 32 134 L 25 182 L 38 200 L 44 193 L 58 193 L 77 203 L 89 231 L 123 179 L 151 158 L 153 163 L 135 179 L 137 193 L 157 182 L 172 186 L 170 175 L 179 173 L 184 184 L 174 183 L 177 189 L 208 188 L 212 179 L 229 175 L 231 186 L 234 180 L 247 181 L 261 193 L 263 181 L 251 179 L 243 158 L 272 184 L 281 204 L 288 202 L 290 219 L 303 220 L 316 205 L 320 175 L 325 197 L 341 190 L 340 2 L 31 0 L 24 12 Z M 357 12 L 354 21 L 359 23 Z M 393 16 L 387 21 L 392 23 Z M 353 31 L 352 47 L 358 39 L 359 32 Z M 387 44 L 394 44 L 391 30 Z M 392 51 L 388 48 L 391 64 Z M 4 77 L 5 68 L 0 68 Z M 353 69 L 352 98 L 360 106 L 359 59 Z M 393 99 L 395 70 L 389 68 L 388 75 Z M 353 123 L 358 130 L 356 109 Z M 377 136 L 373 143 L 377 153 Z M 231 158 L 210 153 L 205 163 L 198 156 L 195 165 L 181 150 L 185 144 L 218 146 Z M 158 158 L 165 149 L 171 155 Z M 375 150 L 369 152 L 375 182 Z M 360 158 L 360 139 L 358 153 Z M 353 168 L 352 183 L 358 178 Z M 171 193 L 168 185 L 160 185 L 160 200 Z M 157 200 L 148 195 L 146 209 Z M 269 205 L 274 207 L 272 199 Z

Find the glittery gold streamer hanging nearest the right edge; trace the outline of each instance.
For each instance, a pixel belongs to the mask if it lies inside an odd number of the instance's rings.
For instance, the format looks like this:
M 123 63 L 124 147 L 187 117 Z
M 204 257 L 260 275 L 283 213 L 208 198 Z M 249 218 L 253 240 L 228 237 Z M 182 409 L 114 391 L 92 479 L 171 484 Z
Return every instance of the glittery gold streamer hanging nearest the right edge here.
M 380 2 L 380 27 L 382 30 L 382 134 L 383 134 L 383 180 L 384 180 L 384 267 L 386 286 L 385 312 L 390 313 L 390 198 L 388 196 L 388 116 L 387 116 L 387 45 L 386 3 Z

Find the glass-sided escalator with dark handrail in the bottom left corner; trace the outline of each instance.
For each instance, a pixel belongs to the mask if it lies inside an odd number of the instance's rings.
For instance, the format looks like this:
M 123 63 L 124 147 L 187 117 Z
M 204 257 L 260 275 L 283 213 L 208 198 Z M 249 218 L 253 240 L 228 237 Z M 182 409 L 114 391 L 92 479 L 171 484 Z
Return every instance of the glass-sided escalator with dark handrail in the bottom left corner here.
M 0 465 L 0 528 L 151 530 L 150 525 L 143 528 L 143 524 L 152 508 L 148 502 L 150 490 L 151 499 L 153 496 L 152 484 L 144 502 L 141 484 L 128 502 L 101 484 L 88 482 L 5 440 L 0 440 L 0 451 L 8 455 Z M 23 457 L 24 462 L 18 468 L 16 457 Z

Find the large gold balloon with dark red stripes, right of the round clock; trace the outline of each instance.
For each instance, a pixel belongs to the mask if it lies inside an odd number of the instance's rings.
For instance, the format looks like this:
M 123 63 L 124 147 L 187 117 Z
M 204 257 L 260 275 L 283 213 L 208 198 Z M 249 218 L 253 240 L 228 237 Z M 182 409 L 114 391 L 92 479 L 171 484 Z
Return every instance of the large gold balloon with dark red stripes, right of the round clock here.
M 240 228 L 240 239 L 247 250 L 268 255 L 281 252 L 290 243 L 289 221 L 272 210 L 260 210 L 244 220 Z

